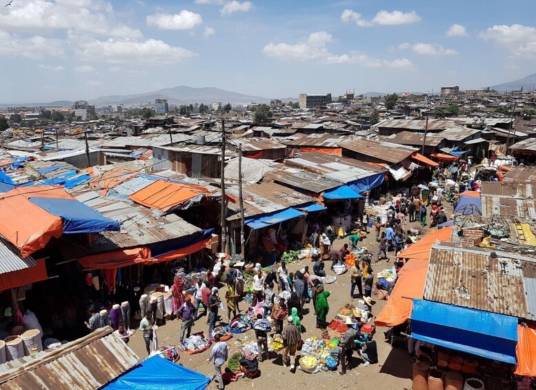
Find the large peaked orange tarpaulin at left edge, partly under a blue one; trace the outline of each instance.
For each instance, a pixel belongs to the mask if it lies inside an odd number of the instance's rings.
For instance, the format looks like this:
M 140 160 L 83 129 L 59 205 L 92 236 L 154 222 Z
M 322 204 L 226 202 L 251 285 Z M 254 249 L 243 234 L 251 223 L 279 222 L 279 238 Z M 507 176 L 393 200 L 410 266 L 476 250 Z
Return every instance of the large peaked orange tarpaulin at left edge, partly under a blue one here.
M 55 186 L 20 187 L 0 197 L 0 235 L 28 257 L 63 232 L 61 217 L 52 215 L 28 200 L 30 197 L 75 199 Z

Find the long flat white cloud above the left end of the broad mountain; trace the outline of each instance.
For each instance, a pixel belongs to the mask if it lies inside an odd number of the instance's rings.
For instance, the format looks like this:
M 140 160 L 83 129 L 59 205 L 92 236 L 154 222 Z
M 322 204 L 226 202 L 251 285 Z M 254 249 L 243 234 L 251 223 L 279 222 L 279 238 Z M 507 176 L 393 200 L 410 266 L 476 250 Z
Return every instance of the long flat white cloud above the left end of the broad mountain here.
M 184 59 L 197 56 L 197 53 L 168 43 L 147 39 L 93 39 L 82 43 L 76 50 L 77 55 L 85 61 L 106 61 L 111 63 L 145 62 L 157 64 L 175 64 Z

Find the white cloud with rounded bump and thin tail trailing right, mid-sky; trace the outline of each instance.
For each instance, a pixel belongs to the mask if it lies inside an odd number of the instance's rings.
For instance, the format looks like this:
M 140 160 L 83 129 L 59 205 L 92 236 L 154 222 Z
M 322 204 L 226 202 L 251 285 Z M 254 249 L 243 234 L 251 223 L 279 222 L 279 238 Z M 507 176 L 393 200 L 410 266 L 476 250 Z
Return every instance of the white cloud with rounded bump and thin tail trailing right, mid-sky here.
M 368 67 L 410 68 L 413 66 L 408 59 L 395 61 L 373 59 L 361 52 L 349 52 L 336 55 L 328 48 L 327 43 L 335 41 L 328 32 L 312 32 L 305 41 L 291 45 L 289 43 L 268 43 L 263 52 L 268 57 L 281 61 L 316 61 L 321 64 L 358 64 Z

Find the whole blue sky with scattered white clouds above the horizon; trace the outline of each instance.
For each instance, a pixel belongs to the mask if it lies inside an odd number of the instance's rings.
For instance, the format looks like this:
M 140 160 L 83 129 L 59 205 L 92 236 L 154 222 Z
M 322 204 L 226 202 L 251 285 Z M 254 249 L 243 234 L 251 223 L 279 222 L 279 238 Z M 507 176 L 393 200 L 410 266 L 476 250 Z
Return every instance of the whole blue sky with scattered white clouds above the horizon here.
M 3 103 L 174 86 L 267 98 L 432 92 L 536 72 L 533 0 L 13 0 L 0 7 Z

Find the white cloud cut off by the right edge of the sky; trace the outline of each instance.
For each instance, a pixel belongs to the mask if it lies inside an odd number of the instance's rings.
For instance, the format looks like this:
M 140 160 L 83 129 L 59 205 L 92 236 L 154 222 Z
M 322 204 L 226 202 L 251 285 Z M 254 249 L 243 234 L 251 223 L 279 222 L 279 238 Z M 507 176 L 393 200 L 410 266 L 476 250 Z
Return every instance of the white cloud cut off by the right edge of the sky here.
M 516 57 L 536 57 L 536 28 L 513 24 L 495 25 L 480 34 L 481 38 L 494 41 Z

